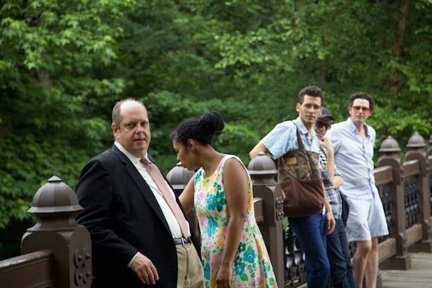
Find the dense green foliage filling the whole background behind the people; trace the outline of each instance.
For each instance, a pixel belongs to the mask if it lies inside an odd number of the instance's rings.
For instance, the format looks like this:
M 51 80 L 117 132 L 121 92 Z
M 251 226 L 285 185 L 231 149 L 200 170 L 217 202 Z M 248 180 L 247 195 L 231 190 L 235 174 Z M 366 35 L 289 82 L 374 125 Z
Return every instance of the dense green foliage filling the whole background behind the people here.
M 112 145 L 122 98 L 147 105 L 150 152 L 165 172 L 183 118 L 221 111 L 215 145 L 248 163 L 273 125 L 296 117 L 310 84 L 337 120 L 351 93 L 374 96 L 377 145 L 392 135 L 403 147 L 414 132 L 429 141 L 431 9 L 431 0 L 0 1 L 0 253 L 8 228 L 31 221 L 46 179 L 74 188 L 82 165 Z

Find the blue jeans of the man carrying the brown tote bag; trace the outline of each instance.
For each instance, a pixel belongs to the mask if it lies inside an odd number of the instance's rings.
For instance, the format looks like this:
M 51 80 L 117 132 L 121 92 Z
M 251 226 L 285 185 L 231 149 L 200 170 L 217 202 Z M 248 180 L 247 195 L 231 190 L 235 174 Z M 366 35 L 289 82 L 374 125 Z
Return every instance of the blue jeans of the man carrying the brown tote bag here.
M 306 258 L 307 288 L 328 288 L 330 264 L 325 249 L 325 215 L 289 217 Z

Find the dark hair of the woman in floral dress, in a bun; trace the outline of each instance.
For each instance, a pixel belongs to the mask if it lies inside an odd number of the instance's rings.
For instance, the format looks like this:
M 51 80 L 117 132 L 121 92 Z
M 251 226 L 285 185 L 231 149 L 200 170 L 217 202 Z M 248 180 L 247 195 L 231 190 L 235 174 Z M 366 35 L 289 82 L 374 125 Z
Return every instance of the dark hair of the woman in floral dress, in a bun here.
M 224 119 L 218 111 L 208 111 L 198 118 L 188 118 L 183 120 L 177 129 L 171 133 L 173 140 L 188 145 L 188 140 L 198 141 L 202 145 L 211 145 L 213 135 L 222 132 L 224 129 Z

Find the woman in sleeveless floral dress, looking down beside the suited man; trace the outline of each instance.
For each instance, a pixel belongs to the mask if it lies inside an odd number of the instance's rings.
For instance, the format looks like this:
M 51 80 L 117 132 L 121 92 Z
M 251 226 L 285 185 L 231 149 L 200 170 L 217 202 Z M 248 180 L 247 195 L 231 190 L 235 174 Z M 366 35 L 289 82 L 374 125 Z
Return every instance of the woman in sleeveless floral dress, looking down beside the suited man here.
M 206 287 L 277 287 L 253 213 L 251 177 L 237 156 L 213 149 L 224 121 L 217 111 L 183 120 L 172 133 L 177 159 L 199 170 L 180 195 L 186 213 L 195 208 L 201 230 Z

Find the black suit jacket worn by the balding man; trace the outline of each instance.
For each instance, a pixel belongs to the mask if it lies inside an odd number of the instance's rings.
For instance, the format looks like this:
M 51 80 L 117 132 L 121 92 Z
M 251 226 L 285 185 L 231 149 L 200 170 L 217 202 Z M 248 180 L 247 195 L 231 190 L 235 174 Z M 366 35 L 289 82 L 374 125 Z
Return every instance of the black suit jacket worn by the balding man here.
M 177 252 L 170 228 L 153 192 L 116 145 L 84 166 L 76 192 L 84 208 L 78 223 L 91 234 L 92 287 L 145 287 L 127 267 L 138 251 L 158 271 L 159 281 L 152 287 L 177 286 Z M 197 237 L 191 234 L 200 255 Z

